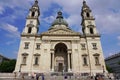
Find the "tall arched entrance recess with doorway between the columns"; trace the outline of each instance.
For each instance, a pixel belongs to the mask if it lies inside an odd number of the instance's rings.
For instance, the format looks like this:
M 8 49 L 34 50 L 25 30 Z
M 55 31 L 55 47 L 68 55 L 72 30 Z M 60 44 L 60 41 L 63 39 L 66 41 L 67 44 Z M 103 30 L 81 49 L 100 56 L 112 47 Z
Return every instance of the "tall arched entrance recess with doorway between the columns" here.
M 55 46 L 55 72 L 67 72 L 67 68 L 67 46 L 64 43 L 58 43 Z

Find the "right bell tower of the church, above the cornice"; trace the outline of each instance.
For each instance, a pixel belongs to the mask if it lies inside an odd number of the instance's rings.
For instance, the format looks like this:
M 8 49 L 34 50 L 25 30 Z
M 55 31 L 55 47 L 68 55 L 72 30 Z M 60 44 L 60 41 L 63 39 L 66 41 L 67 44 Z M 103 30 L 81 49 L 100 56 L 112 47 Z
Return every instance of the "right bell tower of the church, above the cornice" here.
M 82 6 L 82 31 L 84 35 L 97 35 L 97 29 L 95 25 L 95 18 L 92 16 L 92 11 L 89 6 L 86 4 L 86 1 L 83 1 Z

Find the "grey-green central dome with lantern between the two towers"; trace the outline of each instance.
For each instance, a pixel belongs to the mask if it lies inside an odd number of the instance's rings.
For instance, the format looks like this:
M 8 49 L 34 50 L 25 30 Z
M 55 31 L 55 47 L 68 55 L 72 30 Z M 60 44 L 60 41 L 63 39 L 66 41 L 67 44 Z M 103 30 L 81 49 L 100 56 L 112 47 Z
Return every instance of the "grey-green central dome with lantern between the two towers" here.
M 63 19 L 61 11 L 58 12 L 56 20 L 54 20 L 54 22 L 52 23 L 52 26 L 54 26 L 54 25 L 65 25 L 65 26 L 68 26 L 68 23 Z

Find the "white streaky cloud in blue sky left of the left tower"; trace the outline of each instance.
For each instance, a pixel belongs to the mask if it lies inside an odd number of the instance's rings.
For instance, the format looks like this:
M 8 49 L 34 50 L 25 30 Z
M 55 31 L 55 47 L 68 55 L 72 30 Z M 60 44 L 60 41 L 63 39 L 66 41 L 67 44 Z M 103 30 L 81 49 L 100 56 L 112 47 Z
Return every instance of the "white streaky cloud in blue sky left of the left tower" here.
M 2 26 L 0 26 L 0 28 L 8 32 L 6 34 L 8 37 L 12 38 L 20 37 L 20 32 L 18 31 L 18 28 L 11 24 L 3 24 Z

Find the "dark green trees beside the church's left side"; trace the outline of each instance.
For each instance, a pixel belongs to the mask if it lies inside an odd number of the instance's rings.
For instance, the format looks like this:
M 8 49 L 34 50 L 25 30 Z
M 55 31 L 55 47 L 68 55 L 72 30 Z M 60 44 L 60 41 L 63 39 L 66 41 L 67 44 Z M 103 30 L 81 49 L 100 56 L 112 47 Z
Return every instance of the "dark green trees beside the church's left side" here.
M 15 69 L 16 60 L 3 61 L 0 64 L 0 72 L 13 72 Z

